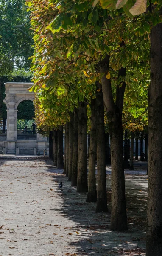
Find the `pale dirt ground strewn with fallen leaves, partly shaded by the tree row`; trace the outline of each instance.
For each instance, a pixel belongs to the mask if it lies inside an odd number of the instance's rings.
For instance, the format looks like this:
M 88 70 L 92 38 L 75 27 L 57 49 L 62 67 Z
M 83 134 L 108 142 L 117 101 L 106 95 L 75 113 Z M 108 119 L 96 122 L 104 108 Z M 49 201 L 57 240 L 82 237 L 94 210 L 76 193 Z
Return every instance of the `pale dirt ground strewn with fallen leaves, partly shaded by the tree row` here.
M 110 166 L 109 212 L 96 213 L 48 158 L 0 156 L 0 256 L 144 256 L 146 169 L 126 170 L 128 231 L 112 232 Z

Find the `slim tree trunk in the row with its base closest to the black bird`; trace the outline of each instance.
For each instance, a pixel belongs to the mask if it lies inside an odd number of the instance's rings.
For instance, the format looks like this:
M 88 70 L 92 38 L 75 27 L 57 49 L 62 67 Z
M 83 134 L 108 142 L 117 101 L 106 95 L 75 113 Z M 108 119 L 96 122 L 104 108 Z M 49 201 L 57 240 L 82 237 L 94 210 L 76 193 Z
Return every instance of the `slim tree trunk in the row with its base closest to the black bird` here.
M 70 112 L 69 122 L 69 173 L 68 181 L 71 181 L 72 176 L 72 162 L 73 162 L 73 125 L 74 125 L 74 112 Z

